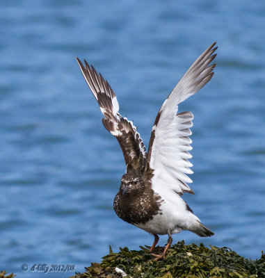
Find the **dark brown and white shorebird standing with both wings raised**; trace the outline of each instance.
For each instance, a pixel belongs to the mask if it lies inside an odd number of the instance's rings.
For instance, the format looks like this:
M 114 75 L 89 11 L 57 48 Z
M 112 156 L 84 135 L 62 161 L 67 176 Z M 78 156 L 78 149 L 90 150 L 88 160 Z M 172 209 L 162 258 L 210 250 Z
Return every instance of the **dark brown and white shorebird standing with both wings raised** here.
M 178 104 L 198 92 L 214 75 L 216 43 L 207 48 L 195 60 L 186 74 L 172 90 L 161 106 L 152 128 L 148 152 L 137 132 L 136 126 L 119 113 L 115 93 L 109 83 L 95 71 L 95 68 L 77 58 L 86 83 L 104 115 L 102 122 L 117 138 L 125 156 L 126 173 L 122 176 L 120 190 L 115 196 L 115 213 L 130 224 L 154 235 L 154 247 L 159 235 L 168 234 L 168 244 L 162 254 L 153 254 L 157 259 L 165 258 L 172 243 L 172 234 L 182 230 L 192 231 L 198 236 L 213 236 L 180 195 L 193 193 L 187 183 L 186 174 L 193 172 L 188 161 L 193 114 L 177 114 Z

